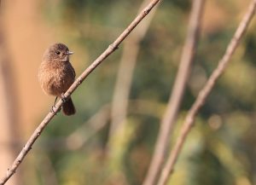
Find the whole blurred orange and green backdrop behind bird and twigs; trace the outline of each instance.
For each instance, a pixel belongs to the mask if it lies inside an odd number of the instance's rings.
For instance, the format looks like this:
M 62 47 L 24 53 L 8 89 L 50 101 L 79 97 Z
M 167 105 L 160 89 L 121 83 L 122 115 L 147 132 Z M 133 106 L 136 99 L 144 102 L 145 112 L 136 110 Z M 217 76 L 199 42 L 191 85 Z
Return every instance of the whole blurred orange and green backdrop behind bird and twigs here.
M 177 129 L 245 13 L 249 0 L 207 0 Z M 0 35 L 0 176 L 55 97 L 38 66 L 66 43 L 77 76 L 133 20 L 143 0 L 3 1 Z M 77 113 L 50 122 L 6 184 L 139 185 L 177 73 L 191 1 L 162 1 L 73 93 Z M 197 116 L 169 184 L 256 184 L 256 25 Z M 173 140 L 172 140 L 173 142 Z

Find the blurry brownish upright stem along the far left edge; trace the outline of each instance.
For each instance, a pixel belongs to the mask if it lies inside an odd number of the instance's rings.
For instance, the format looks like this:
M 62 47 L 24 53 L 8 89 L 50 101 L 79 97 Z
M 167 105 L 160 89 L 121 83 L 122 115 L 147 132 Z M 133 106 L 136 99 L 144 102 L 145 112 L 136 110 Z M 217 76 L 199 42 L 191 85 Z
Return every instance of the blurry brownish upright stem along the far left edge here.
M 4 166 L 9 165 L 15 159 L 19 140 L 17 128 L 19 126 L 19 111 L 17 110 L 17 98 L 15 79 L 12 70 L 12 62 L 5 43 L 2 19 L 0 19 L 0 172 L 4 172 Z M 10 184 L 16 184 L 19 176 L 15 176 Z

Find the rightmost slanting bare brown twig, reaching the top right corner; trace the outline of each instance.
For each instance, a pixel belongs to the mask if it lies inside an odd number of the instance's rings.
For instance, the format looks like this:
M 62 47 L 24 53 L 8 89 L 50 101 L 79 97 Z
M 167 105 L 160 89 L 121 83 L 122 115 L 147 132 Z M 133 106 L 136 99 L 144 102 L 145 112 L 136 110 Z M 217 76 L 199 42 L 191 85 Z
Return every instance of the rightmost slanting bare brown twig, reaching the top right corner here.
M 161 173 L 160 181 L 158 182 L 158 185 L 165 185 L 168 180 L 168 177 L 172 174 L 178 154 L 180 153 L 183 147 L 183 143 L 185 142 L 189 134 L 189 131 L 191 130 L 194 124 L 195 115 L 198 113 L 199 109 L 204 105 L 207 99 L 207 96 L 210 94 L 214 84 L 216 83 L 216 80 L 224 72 L 225 68 L 230 62 L 231 56 L 235 52 L 238 44 L 240 43 L 242 36 L 246 32 L 250 21 L 253 19 L 253 15 L 255 14 L 255 9 L 256 9 L 256 0 L 253 0 L 252 3 L 249 5 L 249 8 L 247 9 L 247 14 L 245 14 L 243 19 L 241 20 L 241 23 L 238 26 L 234 37 L 231 39 L 230 44 L 228 45 L 223 58 L 218 62 L 217 68 L 212 72 L 212 75 L 207 80 L 207 84 L 205 84 L 205 86 L 202 88 L 202 90 L 200 91 L 199 95 L 195 100 L 195 103 L 189 109 L 189 113 L 187 114 L 183 122 L 183 127 L 177 138 L 177 142 L 173 147 L 172 153 L 170 157 L 167 159 L 166 166 L 164 167 Z

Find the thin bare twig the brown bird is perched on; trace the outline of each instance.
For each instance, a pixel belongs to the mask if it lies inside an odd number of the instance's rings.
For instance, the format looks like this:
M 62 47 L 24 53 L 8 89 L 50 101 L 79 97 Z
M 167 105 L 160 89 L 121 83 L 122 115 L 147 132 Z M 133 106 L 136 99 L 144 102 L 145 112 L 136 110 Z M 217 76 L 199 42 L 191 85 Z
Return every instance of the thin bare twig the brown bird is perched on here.
M 73 91 L 76 90 L 79 85 L 84 81 L 84 79 L 92 72 L 96 66 L 102 63 L 104 59 L 108 57 L 108 55 L 112 54 L 115 49 L 118 49 L 119 44 L 122 43 L 123 40 L 131 33 L 131 31 L 143 20 L 145 16 L 150 12 L 151 9 L 154 8 L 154 6 L 160 3 L 160 0 L 152 0 L 151 3 L 148 3 L 147 7 L 143 9 L 143 11 L 137 15 L 135 20 L 131 22 L 131 24 L 125 29 L 124 32 L 122 32 L 119 35 L 119 38 L 117 38 L 112 44 L 109 45 L 108 49 L 106 49 L 102 55 L 100 55 L 96 61 L 94 61 L 80 76 L 75 80 L 75 82 L 71 85 L 71 87 L 67 90 L 67 92 L 64 94 L 66 98 L 68 98 L 70 95 L 72 95 Z M 61 109 L 62 101 L 58 101 L 55 105 L 55 113 Z M 7 171 L 6 175 L 3 176 L 3 178 L 0 181 L 0 185 L 3 185 L 5 182 L 9 180 L 11 176 L 15 174 L 15 171 L 19 167 L 22 160 L 26 157 L 26 154 L 32 149 L 33 143 L 38 139 L 38 136 L 41 135 L 42 131 L 46 127 L 47 124 L 49 124 L 49 121 L 54 118 L 55 113 L 48 113 L 44 120 L 41 122 L 41 124 L 38 125 L 38 128 L 33 132 L 32 136 L 29 138 L 29 140 L 26 142 L 26 145 L 22 148 L 20 151 L 20 154 L 15 159 L 13 165 L 10 166 L 9 170 Z

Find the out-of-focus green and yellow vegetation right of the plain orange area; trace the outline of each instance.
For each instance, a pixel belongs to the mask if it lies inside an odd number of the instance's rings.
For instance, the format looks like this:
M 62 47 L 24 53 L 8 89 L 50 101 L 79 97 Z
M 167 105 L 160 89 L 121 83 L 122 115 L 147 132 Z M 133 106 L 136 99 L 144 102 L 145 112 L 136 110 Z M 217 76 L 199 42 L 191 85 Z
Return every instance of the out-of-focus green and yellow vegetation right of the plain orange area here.
M 201 40 L 177 124 L 182 122 L 224 54 L 241 12 L 247 7 L 247 2 L 243 2 L 244 6 L 241 2 L 207 1 Z M 57 39 L 75 52 L 72 61 L 79 75 L 133 20 L 141 3 L 48 0 L 40 3 L 39 14 L 47 24 L 55 26 L 59 33 Z M 96 128 L 87 121 L 111 104 L 122 46 L 73 94 L 77 114 L 67 118 L 59 113 L 44 131 L 30 162 L 34 177 L 25 178 L 24 184 L 139 185 L 143 182 L 177 72 L 189 10 L 190 1 L 160 3 L 140 43 L 125 120 L 127 128 L 125 136 L 116 136 L 118 143 L 111 147 L 115 151 L 109 151 L 107 145 L 109 113 L 105 113 L 105 119 L 96 119 L 96 125 L 104 121 L 107 124 L 91 136 Z M 256 183 L 254 28 L 255 24 L 250 26 L 228 70 L 202 107 L 170 184 Z M 176 136 L 175 132 L 172 142 Z M 24 172 L 24 176 L 31 176 L 32 171 Z

